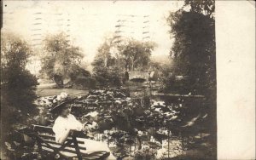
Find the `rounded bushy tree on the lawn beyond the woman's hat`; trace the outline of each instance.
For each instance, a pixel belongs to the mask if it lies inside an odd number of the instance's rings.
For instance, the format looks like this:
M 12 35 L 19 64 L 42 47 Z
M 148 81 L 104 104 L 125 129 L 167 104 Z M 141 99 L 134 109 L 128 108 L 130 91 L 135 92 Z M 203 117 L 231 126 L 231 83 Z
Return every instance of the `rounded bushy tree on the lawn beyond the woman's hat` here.
M 44 51 L 41 73 L 63 87 L 63 80 L 69 78 L 80 65 L 83 58 L 81 49 L 70 44 L 67 36 L 61 32 L 44 39 Z

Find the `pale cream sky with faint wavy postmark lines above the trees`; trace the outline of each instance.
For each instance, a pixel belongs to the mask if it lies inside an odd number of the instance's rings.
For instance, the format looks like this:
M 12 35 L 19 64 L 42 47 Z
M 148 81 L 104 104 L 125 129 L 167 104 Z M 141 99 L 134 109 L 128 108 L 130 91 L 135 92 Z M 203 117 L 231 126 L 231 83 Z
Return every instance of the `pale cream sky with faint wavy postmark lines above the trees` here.
M 154 60 L 166 60 L 172 47 L 166 17 L 181 1 L 3 1 L 3 30 L 40 46 L 47 34 L 67 33 L 89 65 L 104 37 L 115 35 L 153 41 Z M 143 39 L 146 37 L 146 39 Z

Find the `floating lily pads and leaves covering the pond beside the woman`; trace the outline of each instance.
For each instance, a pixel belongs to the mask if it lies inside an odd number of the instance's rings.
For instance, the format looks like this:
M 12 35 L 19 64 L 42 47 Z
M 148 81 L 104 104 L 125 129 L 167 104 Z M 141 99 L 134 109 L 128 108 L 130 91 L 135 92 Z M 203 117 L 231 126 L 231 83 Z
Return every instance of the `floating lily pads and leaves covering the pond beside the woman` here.
M 180 133 L 187 133 L 182 126 L 191 123 L 186 129 L 191 135 L 198 134 L 201 131 L 197 127 L 203 127 L 204 124 L 201 122 L 206 121 L 204 106 L 201 106 L 201 102 L 197 100 L 166 97 L 164 101 L 151 99 L 149 103 L 145 103 L 145 100 L 130 99 L 124 93 L 120 93 L 122 92 L 119 89 L 90 91 L 89 95 L 75 101 L 76 110 L 73 110 L 81 119 L 86 118 L 84 115 L 88 113 L 99 113 L 91 117 L 91 120 L 97 123 L 96 131 L 103 134 L 102 139 L 112 141 L 118 146 L 113 147 L 113 150 L 117 149 L 113 151 L 114 153 L 120 154 L 125 148 L 128 149 L 128 146 L 136 143 L 137 149 L 134 151 L 136 159 L 157 159 L 155 151 L 159 150 L 161 144 L 164 145 L 163 140 L 167 142 L 170 136 L 172 155 L 181 154 L 186 144 L 181 146 L 180 139 L 174 141 L 174 137 L 179 136 Z M 76 103 L 79 105 L 75 105 Z M 198 115 L 201 115 L 200 120 L 190 121 Z M 150 137 L 154 139 L 150 141 Z M 163 151 L 168 149 L 165 148 Z M 128 153 L 129 151 L 126 151 L 126 154 Z M 119 157 L 119 154 L 115 156 Z

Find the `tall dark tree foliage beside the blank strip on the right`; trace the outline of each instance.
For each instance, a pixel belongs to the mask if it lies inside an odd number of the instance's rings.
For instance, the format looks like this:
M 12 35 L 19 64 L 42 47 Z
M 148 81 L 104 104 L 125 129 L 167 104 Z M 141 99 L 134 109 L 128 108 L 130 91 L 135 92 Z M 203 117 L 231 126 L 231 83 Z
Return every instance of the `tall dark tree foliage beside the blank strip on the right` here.
M 215 26 L 214 18 L 209 16 L 214 6 L 206 7 L 214 3 L 209 2 L 186 1 L 185 5 L 191 7 L 189 12 L 180 9 L 167 18 L 171 26 L 170 33 L 175 39 L 171 51 L 173 72 L 175 75 L 189 77 L 186 85 L 188 93 L 214 93 L 212 89 L 216 88 Z M 204 12 L 207 14 L 202 14 Z

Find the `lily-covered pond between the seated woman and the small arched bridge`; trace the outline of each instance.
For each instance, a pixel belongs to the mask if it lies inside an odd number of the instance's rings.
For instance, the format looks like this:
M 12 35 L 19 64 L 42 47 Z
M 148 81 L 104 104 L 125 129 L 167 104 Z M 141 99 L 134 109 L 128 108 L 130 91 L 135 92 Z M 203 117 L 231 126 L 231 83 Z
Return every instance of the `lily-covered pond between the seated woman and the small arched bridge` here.
M 154 95 L 147 90 L 95 90 L 74 100 L 71 111 L 79 120 L 90 122 L 87 134 L 91 139 L 107 143 L 119 158 L 177 157 L 211 137 L 205 129 L 207 106 L 203 99 L 193 97 Z

